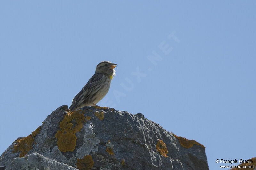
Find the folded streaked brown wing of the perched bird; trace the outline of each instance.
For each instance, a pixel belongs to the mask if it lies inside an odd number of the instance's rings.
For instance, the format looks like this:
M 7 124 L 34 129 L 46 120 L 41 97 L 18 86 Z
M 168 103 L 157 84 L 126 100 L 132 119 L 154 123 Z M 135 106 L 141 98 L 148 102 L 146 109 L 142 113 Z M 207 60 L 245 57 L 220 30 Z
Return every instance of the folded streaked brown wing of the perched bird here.
M 83 89 L 76 95 L 76 97 L 72 101 L 72 105 L 74 104 L 73 108 L 76 108 L 80 104 L 86 100 L 93 89 L 97 87 L 100 83 L 102 83 L 103 77 L 102 74 L 94 74 L 92 78 L 86 83 L 86 85 L 83 87 Z M 71 106 L 72 106 L 71 105 Z

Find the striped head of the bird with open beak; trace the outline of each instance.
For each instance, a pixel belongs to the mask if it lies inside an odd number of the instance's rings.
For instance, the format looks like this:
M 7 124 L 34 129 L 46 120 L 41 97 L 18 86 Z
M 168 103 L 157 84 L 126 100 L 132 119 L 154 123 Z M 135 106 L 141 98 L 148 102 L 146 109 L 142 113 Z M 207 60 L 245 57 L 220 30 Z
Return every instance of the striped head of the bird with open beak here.
M 97 67 L 95 73 L 108 74 L 110 76 L 115 76 L 115 67 L 117 64 L 111 63 L 109 61 L 100 62 Z

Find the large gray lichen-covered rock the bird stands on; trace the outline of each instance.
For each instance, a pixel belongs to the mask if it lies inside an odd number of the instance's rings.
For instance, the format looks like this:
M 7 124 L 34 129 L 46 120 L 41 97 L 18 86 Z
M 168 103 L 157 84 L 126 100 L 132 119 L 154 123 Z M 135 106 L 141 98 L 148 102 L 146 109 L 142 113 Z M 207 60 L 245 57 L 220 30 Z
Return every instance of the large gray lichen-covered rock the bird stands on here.
M 203 145 L 164 130 L 141 113 L 113 108 L 57 108 L 31 135 L 4 151 L 0 166 L 35 152 L 78 169 L 208 169 Z

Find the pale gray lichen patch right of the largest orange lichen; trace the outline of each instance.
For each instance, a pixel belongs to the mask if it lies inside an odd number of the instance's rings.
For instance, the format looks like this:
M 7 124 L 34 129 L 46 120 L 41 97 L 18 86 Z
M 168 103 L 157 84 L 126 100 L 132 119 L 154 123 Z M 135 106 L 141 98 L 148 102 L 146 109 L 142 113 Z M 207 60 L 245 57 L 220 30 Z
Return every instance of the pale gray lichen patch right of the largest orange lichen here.
M 93 133 L 93 128 L 94 126 L 89 123 L 83 126 L 83 130 L 85 130 L 84 144 L 77 149 L 76 158 L 83 159 L 85 155 L 98 151 L 98 147 L 95 146 L 100 143 L 100 140 L 96 137 L 95 133 Z

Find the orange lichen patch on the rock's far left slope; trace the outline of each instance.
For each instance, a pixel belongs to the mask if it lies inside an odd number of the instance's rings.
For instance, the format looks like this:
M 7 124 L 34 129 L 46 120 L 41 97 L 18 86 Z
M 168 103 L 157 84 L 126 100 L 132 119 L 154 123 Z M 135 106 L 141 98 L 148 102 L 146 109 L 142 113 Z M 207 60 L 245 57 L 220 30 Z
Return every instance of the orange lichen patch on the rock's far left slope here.
M 23 137 L 22 139 L 16 140 L 17 145 L 14 145 L 12 153 L 17 153 L 21 151 L 19 157 L 21 158 L 25 156 L 28 153 L 28 151 L 32 149 L 35 137 L 40 132 L 40 130 L 41 126 L 39 126 L 34 132 L 32 132 L 27 137 Z

